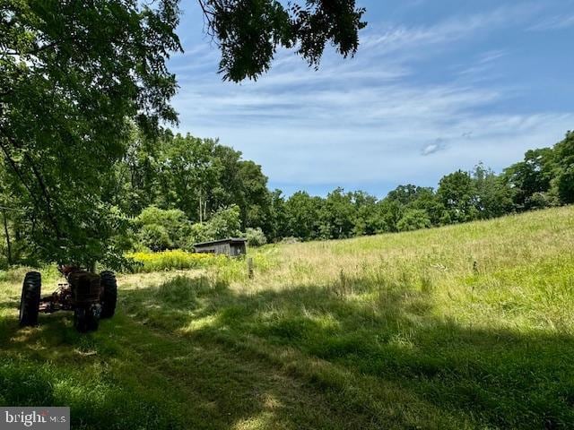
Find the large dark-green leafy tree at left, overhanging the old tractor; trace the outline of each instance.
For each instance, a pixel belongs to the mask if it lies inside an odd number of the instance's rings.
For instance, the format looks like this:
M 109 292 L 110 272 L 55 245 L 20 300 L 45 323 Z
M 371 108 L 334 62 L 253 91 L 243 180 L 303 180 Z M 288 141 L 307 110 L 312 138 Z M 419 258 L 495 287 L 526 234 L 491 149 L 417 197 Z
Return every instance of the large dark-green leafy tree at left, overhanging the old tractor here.
M 121 217 L 101 196 L 127 118 L 148 132 L 176 120 L 166 60 L 180 50 L 178 2 L 0 7 L 0 150 L 26 191 L 30 244 L 46 261 L 115 261 Z

